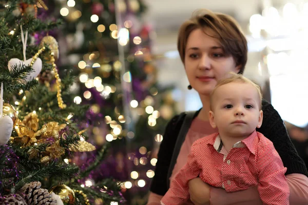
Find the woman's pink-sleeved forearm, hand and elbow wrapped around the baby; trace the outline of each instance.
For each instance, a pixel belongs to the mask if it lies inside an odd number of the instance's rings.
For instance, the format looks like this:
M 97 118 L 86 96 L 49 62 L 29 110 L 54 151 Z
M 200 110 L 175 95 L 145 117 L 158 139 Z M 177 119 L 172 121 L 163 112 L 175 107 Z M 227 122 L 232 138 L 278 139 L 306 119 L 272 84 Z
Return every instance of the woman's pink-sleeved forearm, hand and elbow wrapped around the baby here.
M 302 174 L 289 174 L 285 176 L 290 189 L 290 205 L 308 204 L 308 177 Z M 210 197 L 208 197 L 210 192 Z M 192 179 L 189 182 L 189 193 L 191 201 L 198 205 L 262 205 L 257 187 L 227 193 L 224 189 L 209 187 L 200 178 Z M 154 205 L 154 204 L 153 204 Z

